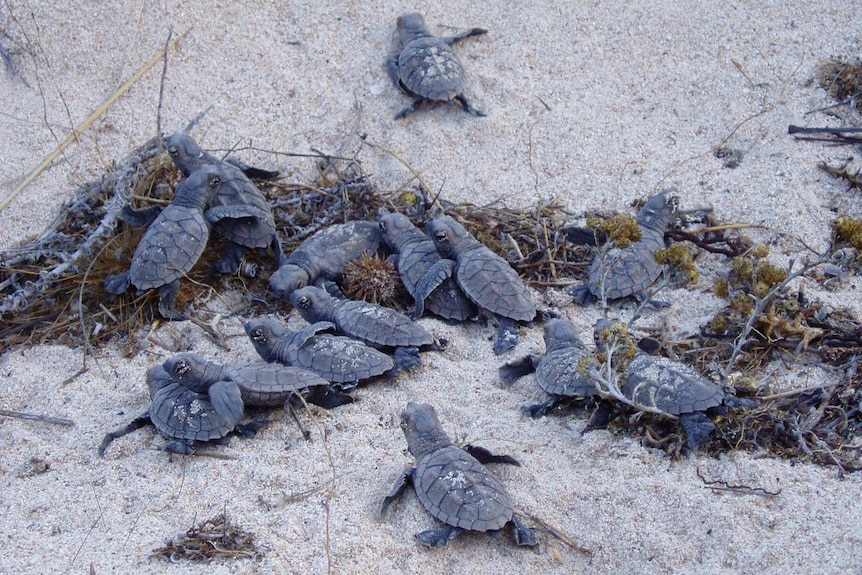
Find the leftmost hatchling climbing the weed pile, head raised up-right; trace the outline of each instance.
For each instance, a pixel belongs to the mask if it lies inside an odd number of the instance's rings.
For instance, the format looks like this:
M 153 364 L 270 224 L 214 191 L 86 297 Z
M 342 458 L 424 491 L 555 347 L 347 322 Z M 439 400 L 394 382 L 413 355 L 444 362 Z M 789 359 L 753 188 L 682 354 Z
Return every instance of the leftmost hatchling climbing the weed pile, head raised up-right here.
M 222 186 L 225 170 L 207 166 L 177 186 L 174 200 L 158 215 L 141 238 L 129 271 L 104 280 L 105 290 L 121 294 L 134 285 L 138 292 L 159 289 L 159 313 L 183 319 L 173 307 L 179 279 L 188 273 L 206 247 L 210 222 L 204 209 Z

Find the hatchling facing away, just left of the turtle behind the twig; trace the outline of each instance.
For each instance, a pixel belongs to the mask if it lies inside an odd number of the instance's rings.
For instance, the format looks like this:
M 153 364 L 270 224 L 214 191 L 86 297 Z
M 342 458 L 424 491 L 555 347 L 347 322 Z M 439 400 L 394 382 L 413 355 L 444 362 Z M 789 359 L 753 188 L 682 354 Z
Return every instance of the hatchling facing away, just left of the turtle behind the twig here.
M 580 361 L 589 353 L 578 337 L 575 326 L 567 319 L 555 318 L 545 323 L 545 355 L 530 355 L 500 367 L 504 385 L 535 371 L 536 383 L 550 395 L 545 403 L 524 407 L 533 417 L 545 415 L 548 409 L 569 398 L 586 399 L 596 395 L 596 386 L 582 375 Z

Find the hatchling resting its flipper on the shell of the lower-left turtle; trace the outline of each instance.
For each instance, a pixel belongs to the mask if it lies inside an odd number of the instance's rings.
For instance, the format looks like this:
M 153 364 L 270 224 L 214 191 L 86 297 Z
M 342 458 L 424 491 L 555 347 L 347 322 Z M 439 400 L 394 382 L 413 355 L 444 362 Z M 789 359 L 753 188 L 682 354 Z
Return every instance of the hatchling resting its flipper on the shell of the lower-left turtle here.
M 163 364 L 165 371 L 186 387 L 199 391 L 219 381 L 239 386 L 245 405 L 288 407 L 299 394 L 327 409 L 352 403 L 353 398 L 336 391 L 329 382 L 301 367 L 254 362 L 220 365 L 193 353 L 178 354 Z

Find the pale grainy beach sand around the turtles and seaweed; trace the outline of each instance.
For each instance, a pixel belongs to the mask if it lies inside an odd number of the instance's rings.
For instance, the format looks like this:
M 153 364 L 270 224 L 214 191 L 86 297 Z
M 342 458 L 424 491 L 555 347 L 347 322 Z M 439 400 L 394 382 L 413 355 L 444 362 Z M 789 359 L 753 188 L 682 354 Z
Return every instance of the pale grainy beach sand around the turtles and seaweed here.
M 4 3 L 0 30 L 11 40 L 0 41 L 8 49 L 25 46 L 36 58 L 15 54 L 32 87 L 0 77 L 0 195 L 6 197 L 71 124 L 161 50 L 173 26 L 176 34 L 189 31 L 170 53 L 163 129 L 177 131 L 213 106 L 193 132 L 209 149 L 253 144 L 344 153 L 365 134 L 409 160 L 452 201 L 523 207 L 556 197 L 582 213 L 627 209 L 632 199 L 675 185 L 685 207 L 712 205 L 726 221 L 762 223 L 820 249 L 832 206 L 860 215 L 855 193 L 816 168 L 818 161 L 835 162 L 855 150 L 797 143 L 786 135 L 790 123 L 842 123 L 804 114 L 832 103 L 809 83 L 817 63 L 860 53 L 858 2 L 757 8 L 722 2 L 670 8 L 655 0 L 272 4 L 279 3 L 31 0 L 10 11 Z M 392 120 L 409 100 L 391 86 L 383 61 L 395 17 L 409 9 L 422 11 L 442 33 L 444 24 L 490 29 L 457 48 L 468 96 L 487 118 L 438 107 Z M 155 135 L 160 68 L 0 213 L 2 245 L 40 232 L 75 184 Z M 712 155 L 720 144 L 744 152 L 737 169 Z M 314 173 L 312 160 L 239 155 L 278 167 L 292 181 Z M 366 149 L 360 159 L 383 189 L 410 184 L 410 174 L 387 154 Z M 773 254 L 783 263 L 800 250 L 783 239 Z M 813 284 L 806 289 L 859 317 L 857 285 L 851 279 L 827 294 Z M 708 295 L 708 281 L 700 288 L 672 294 L 674 307 L 641 325 L 665 322 L 673 335 L 696 329 L 721 305 Z M 587 335 L 597 311 L 566 306 L 564 313 Z M 242 320 L 231 317 L 219 328 L 229 353 L 183 324 L 163 327 L 159 337 L 179 337 L 182 330 L 188 347 L 208 358 L 251 360 Z M 81 365 L 81 350 L 32 346 L 6 353 L 0 357 L 0 407 L 67 417 L 77 425 L 0 419 L 0 573 L 80 573 L 91 565 L 100 574 L 862 569 L 859 474 L 840 479 L 836 468 L 748 453 L 671 462 L 636 438 L 605 431 L 581 437 L 580 418 L 530 420 L 518 408 L 541 399 L 532 378 L 504 390 L 496 370 L 504 359 L 541 351 L 539 328 L 522 330 L 521 345 L 498 358 L 487 341 L 491 328 L 423 324 L 451 341 L 445 353 L 426 354 L 423 367 L 395 383 L 358 390 L 361 401 L 354 405 L 304 414 L 310 442 L 276 412 L 257 437 L 213 448 L 235 460 L 171 461 L 152 449 L 162 443 L 152 430 L 121 439 L 106 458 L 97 457 L 102 435 L 144 410 L 144 372 L 166 353 L 156 345 L 132 359 L 102 350 L 100 368 L 91 358 L 89 371 L 65 386 L 61 382 Z M 764 383 L 787 389 L 823 378 L 799 365 L 777 369 Z M 553 540 L 533 551 L 483 534 L 426 550 L 412 533 L 437 524 L 412 493 L 378 520 L 380 499 L 412 461 L 398 415 L 413 399 L 433 402 L 456 441 L 518 458 L 523 467 L 497 471 L 519 508 L 594 550 L 592 560 Z M 47 461 L 49 470 L 19 476 L 32 457 Z M 780 489 L 780 495 L 712 491 L 698 471 L 707 479 Z M 202 567 L 148 558 L 168 538 L 222 510 L 257 535 L 260 562 Z

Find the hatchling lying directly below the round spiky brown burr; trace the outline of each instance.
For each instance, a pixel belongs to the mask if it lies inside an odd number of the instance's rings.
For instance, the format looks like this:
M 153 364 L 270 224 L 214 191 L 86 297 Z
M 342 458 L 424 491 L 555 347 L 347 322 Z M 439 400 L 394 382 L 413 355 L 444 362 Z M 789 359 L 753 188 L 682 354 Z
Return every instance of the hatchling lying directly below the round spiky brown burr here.
M 319 287 L 290 294 L 290 303 L 308 323 L 329 321 L 343 335 L 376 348 L 395 348 L 395 369 L 419 364 L 419 348 L 434 345 L 425 328 L 394 309 L 361 300 L 334 298 Z

